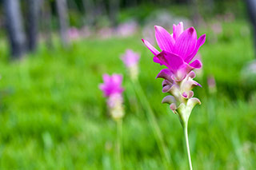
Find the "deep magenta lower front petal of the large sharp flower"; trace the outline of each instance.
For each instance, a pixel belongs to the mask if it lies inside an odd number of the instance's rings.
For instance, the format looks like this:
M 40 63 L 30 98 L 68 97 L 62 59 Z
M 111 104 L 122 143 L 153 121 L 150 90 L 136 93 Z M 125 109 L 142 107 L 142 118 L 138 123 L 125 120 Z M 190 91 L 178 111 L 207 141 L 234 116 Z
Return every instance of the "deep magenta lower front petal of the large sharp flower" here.
M 166 65 L 172 73 L 176 73 L 178 68 L 184 64 L 184 61 L 181 57 L 174 53 L 169 53 L 167 51 L 162 51 L 156 57 L 161 61 L 162 65 Z

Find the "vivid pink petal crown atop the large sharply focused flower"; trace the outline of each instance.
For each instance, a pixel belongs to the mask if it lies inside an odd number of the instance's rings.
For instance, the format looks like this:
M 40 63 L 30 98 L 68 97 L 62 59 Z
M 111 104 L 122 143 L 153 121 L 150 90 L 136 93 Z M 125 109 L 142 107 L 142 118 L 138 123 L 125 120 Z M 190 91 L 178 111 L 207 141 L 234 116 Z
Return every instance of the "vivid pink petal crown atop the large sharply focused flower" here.
M 172 78 L 176 81 L 182 81 L 188 73 L 193 69 L 201 69 L 202 62 L 194 58 L 200 46 L 206 41 L 206 34 L 197 38 L 196 30 L 190 27 L 183 30 L 183 23 L 173 26 L 173 34 L 169 34 L 161 26 L 154 26 L 155 38 L 159 48 L 155 49 L 150 42 L 142 39 L 142 42 L 154 54 L 153 61 L 160 65 L 166 65 L 170 69 Z

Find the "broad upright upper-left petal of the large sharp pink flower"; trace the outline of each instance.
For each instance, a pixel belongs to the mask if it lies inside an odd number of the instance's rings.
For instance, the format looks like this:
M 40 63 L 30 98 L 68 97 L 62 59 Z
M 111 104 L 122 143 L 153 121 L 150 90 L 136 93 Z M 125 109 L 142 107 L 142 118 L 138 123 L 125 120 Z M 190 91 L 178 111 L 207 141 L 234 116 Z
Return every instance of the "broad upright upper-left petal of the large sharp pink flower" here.
M 160 49 L 171 52 L 174 46 L 174 38 L 162 26 L 154 26 L 154 30 Z

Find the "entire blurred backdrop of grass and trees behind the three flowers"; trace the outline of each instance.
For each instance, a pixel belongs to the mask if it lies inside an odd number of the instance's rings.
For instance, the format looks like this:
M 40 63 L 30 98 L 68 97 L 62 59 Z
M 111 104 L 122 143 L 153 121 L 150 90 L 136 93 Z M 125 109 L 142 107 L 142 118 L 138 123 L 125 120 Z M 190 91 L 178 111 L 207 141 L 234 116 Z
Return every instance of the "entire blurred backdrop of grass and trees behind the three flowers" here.
M 161 154 L 120 60 L 141 54 L 139 81 L 171 168 L 187 169 L 182 126 L 162 105 L 164 68 L 143 45 L 154 25 L 183 22 L 206 34 L 190 116 L 194 169 L 256 167 L 254 0 L 0 0 L 0 168 L 115 169 L 116 125 L 98 89 L 102 73 L 123 73 L 124 169 L 164 169 Z

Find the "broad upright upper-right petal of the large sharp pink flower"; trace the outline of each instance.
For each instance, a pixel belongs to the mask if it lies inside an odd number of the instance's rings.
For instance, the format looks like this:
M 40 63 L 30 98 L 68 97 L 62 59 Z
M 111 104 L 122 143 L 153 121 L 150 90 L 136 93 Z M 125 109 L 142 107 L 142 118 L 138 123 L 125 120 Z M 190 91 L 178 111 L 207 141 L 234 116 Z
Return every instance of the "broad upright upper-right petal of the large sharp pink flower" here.
M 194 52 L 197 44 L 197 33 L 193 27 L 185 30 L 177 39 L 173 53 L 185 59 L 190 53 Z

